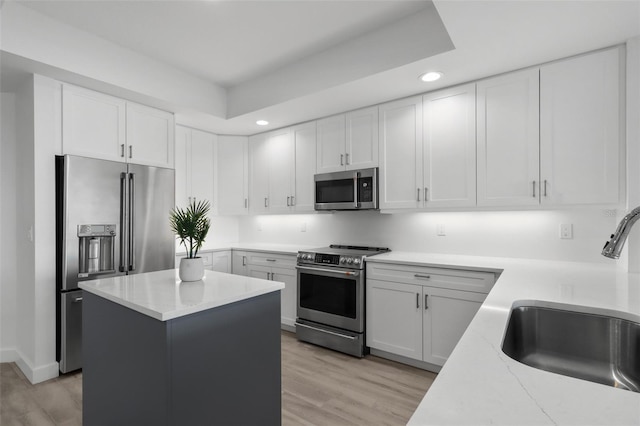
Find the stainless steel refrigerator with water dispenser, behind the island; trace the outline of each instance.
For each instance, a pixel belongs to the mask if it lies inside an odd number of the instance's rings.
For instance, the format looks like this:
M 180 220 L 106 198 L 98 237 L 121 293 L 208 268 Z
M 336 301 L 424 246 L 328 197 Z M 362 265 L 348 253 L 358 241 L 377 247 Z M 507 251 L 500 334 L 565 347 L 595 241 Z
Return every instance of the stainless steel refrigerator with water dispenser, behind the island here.
M 84 280 L 171 269 L 174 171 L 76 156 L 56 157 L 57 355 L 82 368 Z

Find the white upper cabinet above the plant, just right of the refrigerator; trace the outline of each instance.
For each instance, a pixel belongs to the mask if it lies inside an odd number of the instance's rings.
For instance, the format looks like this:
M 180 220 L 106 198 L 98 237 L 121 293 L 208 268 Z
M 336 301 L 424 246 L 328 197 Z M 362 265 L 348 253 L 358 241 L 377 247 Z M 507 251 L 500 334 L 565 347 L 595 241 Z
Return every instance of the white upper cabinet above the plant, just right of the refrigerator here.
M 176 205 L 213 199 L 213 150 L 216 135 L 176 126 Z

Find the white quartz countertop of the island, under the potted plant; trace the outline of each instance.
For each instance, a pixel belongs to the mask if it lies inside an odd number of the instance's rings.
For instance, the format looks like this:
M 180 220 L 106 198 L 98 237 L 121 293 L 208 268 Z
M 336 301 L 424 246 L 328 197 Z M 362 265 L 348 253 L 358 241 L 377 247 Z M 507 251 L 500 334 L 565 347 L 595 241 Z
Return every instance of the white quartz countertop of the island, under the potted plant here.
M 160 321 L 239 302 L 284 288 L 284 283 L 205 270 L 181 282 L 177 269 L 83 281 L 80 288 Z

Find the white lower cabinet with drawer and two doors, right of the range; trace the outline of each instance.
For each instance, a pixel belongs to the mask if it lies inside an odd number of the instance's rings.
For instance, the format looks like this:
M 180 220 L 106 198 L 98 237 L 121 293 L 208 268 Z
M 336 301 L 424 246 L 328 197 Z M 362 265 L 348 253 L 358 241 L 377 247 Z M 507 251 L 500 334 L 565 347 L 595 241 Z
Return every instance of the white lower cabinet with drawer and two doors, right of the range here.
M 367 346 L 444 365 L 494 281 L 489 272 L 367 265 Z

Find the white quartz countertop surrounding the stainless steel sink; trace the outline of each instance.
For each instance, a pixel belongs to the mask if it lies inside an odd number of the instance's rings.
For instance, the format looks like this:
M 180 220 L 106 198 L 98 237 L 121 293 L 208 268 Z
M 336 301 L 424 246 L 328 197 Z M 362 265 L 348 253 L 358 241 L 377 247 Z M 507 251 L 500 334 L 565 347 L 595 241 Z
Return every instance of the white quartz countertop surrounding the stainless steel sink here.
M 640 274 L 588 264 L 391 252 L 367 259 L 502 271 L 409 425 L 639 425 L 640 393 L 538 370 L 502 352 L 518 300 L 582 305 L 640 321 Z

